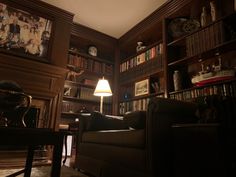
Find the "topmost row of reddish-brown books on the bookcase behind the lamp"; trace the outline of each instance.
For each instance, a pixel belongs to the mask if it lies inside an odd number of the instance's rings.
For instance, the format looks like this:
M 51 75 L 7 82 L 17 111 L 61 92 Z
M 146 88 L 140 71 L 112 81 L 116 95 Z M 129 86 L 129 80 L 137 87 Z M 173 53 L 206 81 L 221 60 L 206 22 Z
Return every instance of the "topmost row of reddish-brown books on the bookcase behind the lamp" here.
M 78 68 L 92 71 L 96 73 L 104 73 L 106 75 L 112 75 L 113 66 L 112 64 L 92 60 L 79 55 L 68 54 L 68 65 Z

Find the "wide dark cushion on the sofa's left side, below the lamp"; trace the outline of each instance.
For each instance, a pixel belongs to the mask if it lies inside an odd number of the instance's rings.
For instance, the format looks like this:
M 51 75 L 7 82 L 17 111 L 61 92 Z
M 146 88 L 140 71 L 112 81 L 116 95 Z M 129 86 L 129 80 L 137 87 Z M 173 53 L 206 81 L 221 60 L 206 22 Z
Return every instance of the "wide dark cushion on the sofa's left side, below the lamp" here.
M 112 129 L 128 129 L 128 127 L 123 119 L 120 119 L 120 117 L 106 116 L 97 111 L 91 113 L 90 119 L 86 126 L 87 131 Z

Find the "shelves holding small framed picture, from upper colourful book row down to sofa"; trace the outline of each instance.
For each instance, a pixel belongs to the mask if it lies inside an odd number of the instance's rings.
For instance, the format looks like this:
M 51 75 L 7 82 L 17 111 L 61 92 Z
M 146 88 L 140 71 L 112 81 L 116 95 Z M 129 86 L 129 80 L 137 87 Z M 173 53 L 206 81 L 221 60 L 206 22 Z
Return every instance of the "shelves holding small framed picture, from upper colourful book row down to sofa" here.
M 146 110 L 151 97 L 163 96 L 163 64 L 162 41 L 146 46 L 131 57 L 121 60 L 119 114 Z M 146 84 L 146 91 L 136 95 L 137 84 L 140 82 Z

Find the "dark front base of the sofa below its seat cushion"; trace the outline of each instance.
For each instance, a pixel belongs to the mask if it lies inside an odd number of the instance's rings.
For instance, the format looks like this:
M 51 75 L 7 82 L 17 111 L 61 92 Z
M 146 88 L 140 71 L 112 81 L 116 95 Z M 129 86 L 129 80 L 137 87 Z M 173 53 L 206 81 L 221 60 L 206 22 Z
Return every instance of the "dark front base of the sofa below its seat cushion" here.
M 146 164 L 146 151 L 139 148 L 129 148 L 121 146 L 111 146 L 106 144 L 95 143 L 81 143 L 79 149 L 78 166 L 86 168 L 93 165 L 93 161 L 101 161 L 109 163 L 114 166 L 121 165 L 129 169 L 145 170 Z M 87 164 L 86 166 L 84 164 Z M 96 168 L 96 166 L 94 167 Z M 114 171 L 114 173 L 116 173 Z M 112 177 L 112 176 L 111 176 Z M 131 176 L 132 177 L 132 176 Z

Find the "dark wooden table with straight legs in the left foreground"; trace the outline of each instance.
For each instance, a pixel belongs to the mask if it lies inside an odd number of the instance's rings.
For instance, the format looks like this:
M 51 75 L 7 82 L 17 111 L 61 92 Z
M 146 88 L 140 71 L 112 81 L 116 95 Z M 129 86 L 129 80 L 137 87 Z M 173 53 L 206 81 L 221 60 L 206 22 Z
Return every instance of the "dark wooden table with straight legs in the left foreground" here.
M 24 177 L 30 177 L 35 147 L 53 145 L 51 177 L 56 177 L 60 176 L 64 136 L 63 132 L 56 132 L 52 129 L 1 127 L 0 145 L 28 146 L 25 168 L 20 171 L 20 173 L 24 173 Z M 16 173 L 19 174 L 19 172 Z

